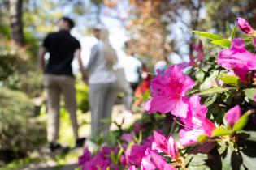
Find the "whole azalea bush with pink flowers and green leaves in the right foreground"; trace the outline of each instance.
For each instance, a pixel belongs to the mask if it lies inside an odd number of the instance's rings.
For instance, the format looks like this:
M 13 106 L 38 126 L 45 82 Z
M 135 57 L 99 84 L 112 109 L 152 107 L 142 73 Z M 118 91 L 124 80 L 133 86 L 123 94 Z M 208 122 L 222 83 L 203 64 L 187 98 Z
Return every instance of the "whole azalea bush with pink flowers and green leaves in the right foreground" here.
M 152 79 L 151 122 L 97 153 L 85 148 L 81 169 L 256 169 L 256 32 L 237 18 L 229 37 L 194 33 L 210 45 L 199 40 L 189 62 Z

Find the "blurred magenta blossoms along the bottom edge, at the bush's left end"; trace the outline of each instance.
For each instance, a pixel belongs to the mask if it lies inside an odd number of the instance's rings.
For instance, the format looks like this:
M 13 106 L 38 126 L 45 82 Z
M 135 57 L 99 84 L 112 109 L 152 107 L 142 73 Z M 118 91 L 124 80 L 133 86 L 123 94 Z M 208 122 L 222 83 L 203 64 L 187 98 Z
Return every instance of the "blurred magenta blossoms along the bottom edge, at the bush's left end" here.
M 150 136 L 146 138 L 141 144 L 132 143 L 133 134 L 123 134 L 121 147 L 124 150 L 119 157 L 120 164 L 114 164 L 111 159 L 112 155 L 118 155 L 119 146 L 117 147 L 102 147 L 97 155 L 92 155 L 90 151 L 85 148 L 83 155 L 78 159 L 79 165 L 83 170 L 106 170 L 107 168 L 120 170 L 130 166 L 141 166 L 141 161 L 145 157 L 145 151 L 150 148 L 154 138 Z M 131 147 L 128 147 L 132 143 Z M 121 166 L 121 167 L 120 167 Z

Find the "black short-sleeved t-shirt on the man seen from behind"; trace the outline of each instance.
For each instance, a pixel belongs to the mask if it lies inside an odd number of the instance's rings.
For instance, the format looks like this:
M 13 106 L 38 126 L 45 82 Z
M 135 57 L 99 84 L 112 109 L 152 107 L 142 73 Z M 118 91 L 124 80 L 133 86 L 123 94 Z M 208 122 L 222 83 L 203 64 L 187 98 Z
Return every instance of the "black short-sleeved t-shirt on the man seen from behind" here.
M 43 41 L 44 46 L 50 53 L 49 62 L 46 66 L 46 74 L 72 74 L 72 60 L 76 49 L 80 49 L 80 43 L 69 32 L 61 30 L 48 34 Z

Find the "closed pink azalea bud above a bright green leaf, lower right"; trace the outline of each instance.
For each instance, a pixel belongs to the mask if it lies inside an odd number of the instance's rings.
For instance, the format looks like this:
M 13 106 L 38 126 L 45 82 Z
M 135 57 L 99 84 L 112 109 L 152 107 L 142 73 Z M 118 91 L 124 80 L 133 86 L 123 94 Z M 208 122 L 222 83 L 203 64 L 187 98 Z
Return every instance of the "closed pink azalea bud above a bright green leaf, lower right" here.
M 228 125 L 232 127 L 238 121 L 239 117 L 241 117 L 241 108 L 239 105 L 236 105 L 228 110 L 224 118 Z

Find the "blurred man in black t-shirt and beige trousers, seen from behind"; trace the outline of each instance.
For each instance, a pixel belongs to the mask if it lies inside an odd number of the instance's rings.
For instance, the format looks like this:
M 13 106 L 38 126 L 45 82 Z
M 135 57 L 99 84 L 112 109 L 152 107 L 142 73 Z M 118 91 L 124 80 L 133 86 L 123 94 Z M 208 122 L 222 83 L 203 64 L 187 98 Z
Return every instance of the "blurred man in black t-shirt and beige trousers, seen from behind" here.
M 80 43 L 71 36 L 70 30 L 74 27 L 72 19 L 63 17 L 59 19 L 57 26 L 59 32 L 53 32 L 46 36 L 39 49 L 41 69 L 44 71 L 44 86 L 47 91 L 47 139 L 50 142 L 50 151 L 61 148 L 57 143 L 59 137 L 59 98 L 63 94 L 65 106 L 70 114 L 73 133 L 76 138 L 76 147 L 82 147 L 85 138 L 78 137 L 78 125 L 76 120 L 76 89 L 75 79 L 72 74 L 72 60 L 77 58 L 80 71 L 85 80 L 85 70 L 80 57 Z M 49 62 L 45 65 L 44 56 L 50 53 Z

